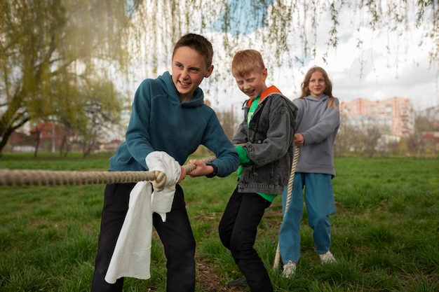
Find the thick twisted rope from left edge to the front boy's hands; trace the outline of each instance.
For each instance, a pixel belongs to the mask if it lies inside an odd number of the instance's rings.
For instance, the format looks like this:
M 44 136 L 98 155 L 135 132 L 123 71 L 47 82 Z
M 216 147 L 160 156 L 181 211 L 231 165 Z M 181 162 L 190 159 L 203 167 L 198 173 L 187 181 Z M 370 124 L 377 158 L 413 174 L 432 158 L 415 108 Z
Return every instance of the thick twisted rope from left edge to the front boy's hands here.
M 215 155 L 202 158 L 207 163 L 215 160 Z M 183 165 L 187 173 L 196 165 Z M 32 169 L 0 169 L 0 186 L 79 186 L 95 183 L 136 183 L 155 181 L 154 172 L 77 172 Z

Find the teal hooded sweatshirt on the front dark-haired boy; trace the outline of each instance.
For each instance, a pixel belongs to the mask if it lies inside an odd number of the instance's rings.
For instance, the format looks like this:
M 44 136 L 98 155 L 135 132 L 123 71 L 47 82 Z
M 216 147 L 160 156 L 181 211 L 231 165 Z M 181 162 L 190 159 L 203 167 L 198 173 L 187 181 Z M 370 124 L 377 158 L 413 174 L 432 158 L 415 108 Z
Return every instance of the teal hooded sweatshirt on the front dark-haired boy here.
M 238 153 L 224 134 L 215 111 L 204 104 L 201 88 L 189 102 L 181 102 L 167 71 L 145 79 L 135 93 L 130 123 L 124 141 L 110 158 L 109 170 L 149 170 L 145 158 L 164 151 L 184 165 L 198 146 L 204 145 L 217 159 L 217 176 L 228 176 L 239 166 Z

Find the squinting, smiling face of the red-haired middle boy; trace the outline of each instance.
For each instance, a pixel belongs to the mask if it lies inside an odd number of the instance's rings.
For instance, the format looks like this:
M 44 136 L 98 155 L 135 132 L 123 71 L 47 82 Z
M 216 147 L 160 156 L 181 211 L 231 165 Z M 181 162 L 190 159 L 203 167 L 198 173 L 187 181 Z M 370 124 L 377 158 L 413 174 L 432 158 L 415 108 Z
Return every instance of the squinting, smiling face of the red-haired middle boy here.
M 239 90 L 244 92 L 245 95 L 248 95 L 251 99 L 255 99 L 266 90 L 266 76 L 266 68 L 263 70 L 255 69 L 243 76 L 235 76 L 235 80 Z

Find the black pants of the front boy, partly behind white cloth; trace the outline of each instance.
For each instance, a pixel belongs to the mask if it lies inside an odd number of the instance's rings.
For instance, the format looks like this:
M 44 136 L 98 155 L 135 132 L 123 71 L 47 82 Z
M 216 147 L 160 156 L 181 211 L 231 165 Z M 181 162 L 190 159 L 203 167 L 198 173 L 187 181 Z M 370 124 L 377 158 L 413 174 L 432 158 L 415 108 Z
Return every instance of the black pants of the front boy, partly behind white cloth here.
M 123 278 L 117 279 L 114 284 L 108 284 L 104 278 L 128 211 L 130 192 L 134 186 L 135 183 L 115 183 L 109 184 L 105 188 L 95 272 L 91 286 L 92 292 L 122 291 Z M 166 214 L 166 222 L 163 223 L 160 215 L 154 213 L 153 224 L 163 243 L 168 260 L 166 263 L 168 270 L 166 291 L 195 291 L 195 239 L 180 185 L 175 186 L 173 207 Z

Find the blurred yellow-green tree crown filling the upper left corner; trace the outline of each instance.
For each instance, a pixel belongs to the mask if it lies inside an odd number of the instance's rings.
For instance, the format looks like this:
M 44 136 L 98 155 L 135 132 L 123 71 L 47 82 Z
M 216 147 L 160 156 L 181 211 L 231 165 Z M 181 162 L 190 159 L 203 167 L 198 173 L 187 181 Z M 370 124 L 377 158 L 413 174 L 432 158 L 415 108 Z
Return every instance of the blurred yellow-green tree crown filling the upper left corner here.
M 29 120 L 74 120 L 79 88 L 125 68 L 129 18 L 124 1 L 0 0 L 0 151 Z

